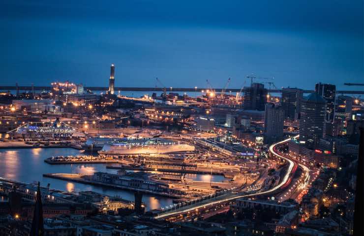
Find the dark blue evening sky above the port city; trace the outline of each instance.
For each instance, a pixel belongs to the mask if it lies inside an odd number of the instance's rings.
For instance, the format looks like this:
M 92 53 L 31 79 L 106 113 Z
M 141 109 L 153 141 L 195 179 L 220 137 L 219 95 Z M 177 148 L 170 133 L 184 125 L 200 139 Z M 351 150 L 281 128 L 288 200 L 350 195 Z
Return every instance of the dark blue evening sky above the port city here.
M 1 1 L 1 84 L 230 88 L 363 82 L 362 0 Z M 359 88 L 358 88 L 359 89 Z

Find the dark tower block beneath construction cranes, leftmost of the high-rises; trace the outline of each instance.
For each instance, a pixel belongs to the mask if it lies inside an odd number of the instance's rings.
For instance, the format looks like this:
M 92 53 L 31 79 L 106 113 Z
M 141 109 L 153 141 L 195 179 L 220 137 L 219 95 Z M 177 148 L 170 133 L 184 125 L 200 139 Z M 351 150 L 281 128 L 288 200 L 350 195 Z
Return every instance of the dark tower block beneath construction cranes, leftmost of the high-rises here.
M 267 103 L 268 90 L 264 89 L 263 84 L 253 83 L 251 87 L 245 88 L 243 95 L 244 110 L 264 111 Z

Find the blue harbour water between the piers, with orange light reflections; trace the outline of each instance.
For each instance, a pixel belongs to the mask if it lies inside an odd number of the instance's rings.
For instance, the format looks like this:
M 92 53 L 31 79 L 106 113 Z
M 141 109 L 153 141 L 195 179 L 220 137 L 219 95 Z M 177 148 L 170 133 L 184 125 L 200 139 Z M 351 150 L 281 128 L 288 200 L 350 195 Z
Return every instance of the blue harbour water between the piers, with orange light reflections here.
M 45 173 L 80 173 L 92 175 L 94 172 L 116 173 L 117 170 L 106 169 L 105 164 L 73 164 L 73 165 L 48 165 L 44 159 L 51 156 L 78 155 L 80 150 L 73 148 L 27 148 L 27 149 L 2 149 L 0 150 L 0 177 L 23 182 L 40 181 L 42 186 L 50 183 L 50 188 L 66 191 L 92 190 L 110 196 L 121 196 L 123 199 L 134 201 L 134 194 L 119 189 L 102 188 L 82 183 L 63 181 L 43 177 Z M 210 181 L 210 175 L 188 174 L 187 178 L 198 181 Z M 222 181 L 225 178 L 218 175 L 212 176 L 212 181 Z M 172 199 L 160 196 L 143 196 L 143 201 L 148 209 L 168 206 Z

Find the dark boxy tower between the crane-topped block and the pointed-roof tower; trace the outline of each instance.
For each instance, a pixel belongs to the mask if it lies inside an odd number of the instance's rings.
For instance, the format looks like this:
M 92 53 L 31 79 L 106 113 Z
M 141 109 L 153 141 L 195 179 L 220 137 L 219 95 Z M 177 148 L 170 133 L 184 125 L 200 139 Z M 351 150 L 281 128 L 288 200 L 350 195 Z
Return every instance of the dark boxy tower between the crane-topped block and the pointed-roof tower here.
M 300 114 L 301 100 L 303 99 L 302 89 L 282 89 L 282 107 L 284 118 L 298 119 Z

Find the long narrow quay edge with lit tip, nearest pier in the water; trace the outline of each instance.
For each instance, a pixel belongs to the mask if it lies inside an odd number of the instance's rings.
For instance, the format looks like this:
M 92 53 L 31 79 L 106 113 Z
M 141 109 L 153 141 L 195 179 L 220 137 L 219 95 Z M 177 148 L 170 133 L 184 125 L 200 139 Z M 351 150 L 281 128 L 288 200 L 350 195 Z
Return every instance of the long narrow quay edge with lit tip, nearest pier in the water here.
M 168 198 L 183 197 L 181 195 L 174 194 L 174 193 L 159 192 L 159 191 L 153 191 L 153 190 L 149 190 L 149 189 L 134 188 L 134 187 L 125 186 L 125 185 L 117 185 L 117 184 L 111 184 L 111 183 L 106 183 L 106 182 L 87 180 L 87 179 L 83 178 L 83 177 L 87 177 L 87 176 L 82 176 L 80 174 L 64 174 L 64 173 L 43 174 L 43 177 L 61 179 L 61 180 L 65 180 L 65 181 L 73 181 L 73 182 L 84 183 L 84 184 L 91 184 L 91 185 L 102 186 L 102 187 L 109 187 L 109 188 L 114 188 L 114 189 L 140 191 L 140 192 L 143 192 L 146 194 L 159 195 L 159 196 L 168 197 Z

